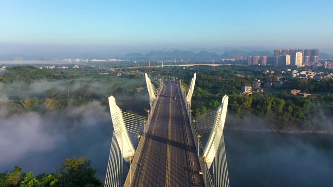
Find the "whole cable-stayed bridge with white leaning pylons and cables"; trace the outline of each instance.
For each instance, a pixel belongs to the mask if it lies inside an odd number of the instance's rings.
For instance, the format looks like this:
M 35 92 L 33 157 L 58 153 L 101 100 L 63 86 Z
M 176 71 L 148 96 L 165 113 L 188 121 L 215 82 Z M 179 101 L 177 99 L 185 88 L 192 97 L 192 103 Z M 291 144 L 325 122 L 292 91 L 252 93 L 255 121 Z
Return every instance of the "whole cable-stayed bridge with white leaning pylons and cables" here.
M 229 187 L 228 97 L 216 111 L 192 118 L 196 73 L 187 93 L 182 82 L 159 81 L 156 89 L 146 74 L 148 118 L 122 112 L 109 97 L 113 135 L 105 187 Z

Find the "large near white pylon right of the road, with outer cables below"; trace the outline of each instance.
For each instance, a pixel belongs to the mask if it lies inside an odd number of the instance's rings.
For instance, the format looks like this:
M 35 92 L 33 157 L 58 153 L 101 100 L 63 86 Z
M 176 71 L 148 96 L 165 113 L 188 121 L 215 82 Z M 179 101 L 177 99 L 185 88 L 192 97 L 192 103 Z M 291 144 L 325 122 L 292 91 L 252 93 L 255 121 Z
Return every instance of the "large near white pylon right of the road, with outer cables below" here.
M 222 103 L 216 111 L 216 117 L 209 135 L 207 144 L 203 150 L 203 156 L 206 158 L 208 169 L 213 161 L 213 180 L 218 187 L 229 187 L 228 169 L 225 156 L 223 128 L 228 108 L 228 96 L 222 98 Z

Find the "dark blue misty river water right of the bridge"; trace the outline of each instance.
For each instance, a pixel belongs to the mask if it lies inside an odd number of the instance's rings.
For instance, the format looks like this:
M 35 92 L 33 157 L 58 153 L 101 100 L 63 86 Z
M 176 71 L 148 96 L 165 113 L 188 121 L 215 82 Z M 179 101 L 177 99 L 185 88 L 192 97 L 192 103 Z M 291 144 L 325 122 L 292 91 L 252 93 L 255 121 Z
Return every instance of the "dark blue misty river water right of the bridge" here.
M 333 135 L 224 131 L 230 187 L 333 187 Z

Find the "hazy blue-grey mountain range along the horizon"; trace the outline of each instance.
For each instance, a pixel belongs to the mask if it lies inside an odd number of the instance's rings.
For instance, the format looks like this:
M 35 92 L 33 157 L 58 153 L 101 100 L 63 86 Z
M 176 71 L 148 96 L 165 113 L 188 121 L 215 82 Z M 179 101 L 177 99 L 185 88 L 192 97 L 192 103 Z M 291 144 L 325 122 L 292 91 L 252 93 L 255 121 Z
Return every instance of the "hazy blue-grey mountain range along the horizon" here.
M 66 56 L 59 56 L 58 59 L 72 58 L 72 59 L 129 59 L 129 60 L 191 60 L 191 61 L 220 61 L 221 59 L 235 58 L 235 56 L 268 56 L 273 57 L 272 51 L 242 51 L 242 50 L 224 50 L 219 51 L 218 49 L 207 49 L 208 51 L 198 51 L 198 49 L 193 49 L 193 51 L 180 51 L 174 50 L 169 51 L 141 51 L 141 52 L 131 52 L 127 54 L 119 54 L 114 52 L 85 52 L 80 54 L 72 54 Z M 191 49 L 190 49 L 191 50 Z M 16 57 L 22 57 L 23 60 L 50 60 L 50 58 L 44 58 L 38 55 L 25 55 L 20 53 L 13 53 L 9 55 L 0 55 L 0 60 L 11 61 Z M 320 59 L 333 59 L 333 55 L 321 52 L 319 53 Z

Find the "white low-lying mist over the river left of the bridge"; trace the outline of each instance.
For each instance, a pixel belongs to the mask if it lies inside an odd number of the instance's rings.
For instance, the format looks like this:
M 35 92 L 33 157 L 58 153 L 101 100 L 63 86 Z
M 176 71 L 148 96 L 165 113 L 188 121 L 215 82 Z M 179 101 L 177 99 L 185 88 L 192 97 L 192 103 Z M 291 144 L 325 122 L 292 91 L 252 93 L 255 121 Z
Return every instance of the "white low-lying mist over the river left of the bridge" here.
M 66 157 L 88 155 L 100 178 L 108 160 L 112 123 L 100 102 L 44 115 L 28 112 L 6 117 L 0 110 L 0 170 L 15 164 L 35 174 L 55 172 Z

